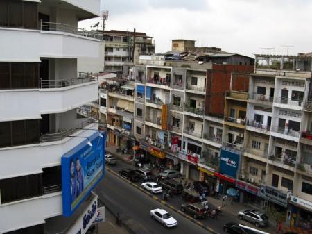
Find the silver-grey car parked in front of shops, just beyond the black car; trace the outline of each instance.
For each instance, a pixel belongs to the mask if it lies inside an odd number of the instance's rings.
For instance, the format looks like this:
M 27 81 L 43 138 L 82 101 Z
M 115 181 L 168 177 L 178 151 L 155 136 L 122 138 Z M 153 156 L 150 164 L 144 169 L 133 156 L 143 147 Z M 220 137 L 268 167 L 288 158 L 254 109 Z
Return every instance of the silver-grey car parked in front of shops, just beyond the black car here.
M 237 215 L 240 220 L 247 220 L 254 223 L 255 226 L 266 226 L 268 225 L 268 216 L 260 210 L 240 210 Z

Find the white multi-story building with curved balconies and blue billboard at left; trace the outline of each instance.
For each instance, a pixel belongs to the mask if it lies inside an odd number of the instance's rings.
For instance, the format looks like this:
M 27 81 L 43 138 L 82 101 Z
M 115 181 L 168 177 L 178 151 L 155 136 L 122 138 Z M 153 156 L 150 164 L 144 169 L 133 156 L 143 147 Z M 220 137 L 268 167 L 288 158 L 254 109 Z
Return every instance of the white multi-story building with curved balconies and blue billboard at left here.
M 0 6 L 0 233 L 85 233 L 105 137 L 80 108 L 98 100 L 96 74 L 77 71 L 78 58 L 98 57 L 98 35 L 77 26 L 100 1 Z

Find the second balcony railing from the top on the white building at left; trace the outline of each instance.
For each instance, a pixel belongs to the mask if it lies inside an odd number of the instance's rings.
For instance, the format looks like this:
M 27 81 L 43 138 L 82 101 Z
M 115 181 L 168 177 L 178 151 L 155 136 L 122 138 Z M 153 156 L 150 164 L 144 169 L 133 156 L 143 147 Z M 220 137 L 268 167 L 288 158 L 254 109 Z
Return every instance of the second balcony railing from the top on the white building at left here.
M 44 80 L 40 79 L 40 88 L 60 88 L 78 85 L 80 83 L 87 83 L 89 81 L 97 81 L 98 74 L 92 74 L 87 72 L 78 72 L 75 78 L 60 78 L 58 80 Z

